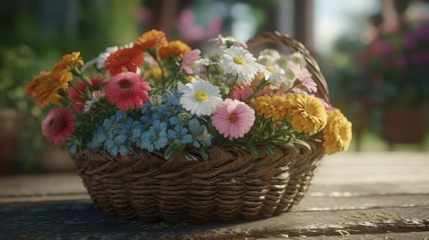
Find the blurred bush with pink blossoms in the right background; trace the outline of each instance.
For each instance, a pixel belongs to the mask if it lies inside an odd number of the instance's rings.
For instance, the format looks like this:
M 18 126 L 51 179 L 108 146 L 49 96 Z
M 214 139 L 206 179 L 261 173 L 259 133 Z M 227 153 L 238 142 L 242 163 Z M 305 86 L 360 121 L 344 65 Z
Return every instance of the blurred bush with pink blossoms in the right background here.
M 359 55 L 365 95 L 395 106 L 429 100 L 429 24 L 408 23 L 380 34 Z

